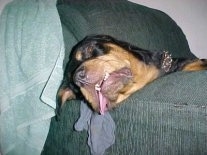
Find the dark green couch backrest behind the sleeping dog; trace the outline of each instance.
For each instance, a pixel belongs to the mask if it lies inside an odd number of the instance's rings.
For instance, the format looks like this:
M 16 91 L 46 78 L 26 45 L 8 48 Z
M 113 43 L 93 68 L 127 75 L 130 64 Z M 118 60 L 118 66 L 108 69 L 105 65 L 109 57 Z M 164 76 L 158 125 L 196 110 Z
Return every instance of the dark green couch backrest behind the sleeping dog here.
M 62 3 L 57 8 L 64 25 L 67 58 L 74 46 L 68 44 L 70 39 L 78 42 L 89 34 L 108 34 L 144 49 L 168 50 L 173 57 L 194 57 L 180 27 L 161 11 L 126 0 Z

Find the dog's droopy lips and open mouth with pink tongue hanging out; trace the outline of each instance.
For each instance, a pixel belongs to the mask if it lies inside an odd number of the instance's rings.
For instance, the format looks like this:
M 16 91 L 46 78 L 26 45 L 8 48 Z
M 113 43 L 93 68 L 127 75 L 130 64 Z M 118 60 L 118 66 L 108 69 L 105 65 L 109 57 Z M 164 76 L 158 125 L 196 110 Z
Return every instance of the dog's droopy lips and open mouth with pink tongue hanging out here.
M 103 75 L 103 73 L 100 73 Z M 93 76 L 90 76 L 93 78 Z M 132 80 L 132 73 L 129 68 L 121 68 L 111 73 L 105 73 L 98 82 L 81 85 L 81 91 L 88 100 L 94 111 L 104 114 L 116 106 L 118 95 L 124 87 Z M 93 81 L 93 79 L 88 79 Z M 87 82 L 86 82 L 87 83 Z

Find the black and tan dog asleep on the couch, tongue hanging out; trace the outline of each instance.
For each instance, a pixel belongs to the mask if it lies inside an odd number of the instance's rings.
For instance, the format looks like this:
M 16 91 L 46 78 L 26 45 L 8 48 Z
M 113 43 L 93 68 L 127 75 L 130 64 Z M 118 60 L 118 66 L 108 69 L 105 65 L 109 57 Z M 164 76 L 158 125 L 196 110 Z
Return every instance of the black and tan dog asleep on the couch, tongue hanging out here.
M 207 69 L 207 59 L 172 58 L 107 35 L 87 36 L 70 55 L 57 93 L 57 115 L 71 99 L 104 114 L 153 80 L 176 71 Z

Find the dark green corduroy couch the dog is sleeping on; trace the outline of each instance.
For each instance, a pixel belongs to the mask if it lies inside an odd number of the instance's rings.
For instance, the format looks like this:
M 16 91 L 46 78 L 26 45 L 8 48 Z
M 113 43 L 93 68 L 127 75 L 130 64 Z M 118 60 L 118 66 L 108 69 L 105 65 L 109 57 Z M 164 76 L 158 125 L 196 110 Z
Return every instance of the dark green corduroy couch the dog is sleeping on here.
M 67 3 L 67 5 L 63 5 Z M 109 34 L 174 57 L 195 57 L 176 23 L 163 12 L 123 0 L 58 2 L 67 55 L 88 34 Z M 116 142 L 108 155 L 207 154 L 207 73 L 175 73 L 151 83 L 111 111 Z M 90 154 L 87 132 L 74 130 L 80 101 L 51 121 L 42 155 Z

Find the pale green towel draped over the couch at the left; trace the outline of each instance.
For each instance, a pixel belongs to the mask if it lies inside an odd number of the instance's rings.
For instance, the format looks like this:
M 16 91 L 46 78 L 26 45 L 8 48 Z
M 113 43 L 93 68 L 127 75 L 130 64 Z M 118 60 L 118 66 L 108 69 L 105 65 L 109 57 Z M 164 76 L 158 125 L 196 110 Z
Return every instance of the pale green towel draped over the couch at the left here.
M 14 0 L 4 8 L 0 19 L 0 154 L 41 153 L 55 115 L 63 55 L 56 0 Z M 58 71 L 59 62 L 61 72 L 55 75 L 60 77 L 53 76 L 54 82 L 50 77 Z

